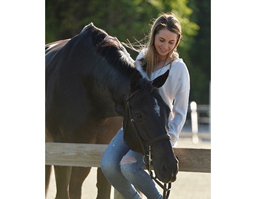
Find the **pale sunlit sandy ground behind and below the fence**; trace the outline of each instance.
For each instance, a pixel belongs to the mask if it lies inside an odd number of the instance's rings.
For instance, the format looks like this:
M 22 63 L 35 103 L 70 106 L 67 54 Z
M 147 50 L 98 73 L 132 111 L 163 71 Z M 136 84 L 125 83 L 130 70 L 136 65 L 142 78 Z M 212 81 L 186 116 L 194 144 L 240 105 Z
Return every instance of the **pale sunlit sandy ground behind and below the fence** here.
M 210 141 L 200 141 L 193 144 L 191 138 L 181 138 L 177 147 L 184 148 L 211 148 Z M 94 199 L 97 196 L 96 170 L 92 168 L 90 174 L 83 183 L 82 199 Z M 159 189 L 160 190 L 160 189 Z M 51 176 L 47 199 L 54 199 L 56 193 L 55 177 Z M 143 198 L 146 198 L 145 196 Z M 179 172 L 177 180 L 172 184 L 169 198 L 174 199 L 210 199 L 211 198 L 211 174 Z M 111 193 L 113 199 L 113 187 Z

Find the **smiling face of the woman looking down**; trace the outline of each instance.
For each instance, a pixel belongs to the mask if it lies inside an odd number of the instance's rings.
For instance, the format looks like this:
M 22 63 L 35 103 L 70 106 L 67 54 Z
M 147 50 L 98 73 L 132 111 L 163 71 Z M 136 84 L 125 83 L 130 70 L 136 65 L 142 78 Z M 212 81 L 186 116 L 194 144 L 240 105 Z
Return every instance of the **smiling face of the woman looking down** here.
M 165 59 L 167 55 L 175 48 L 175 44 L 177 42 L 178 35 L 173 33 L 166 28 L 159 30 L 159 32 L 155 35 L 155 49 L 158 54 L 159 60 Z

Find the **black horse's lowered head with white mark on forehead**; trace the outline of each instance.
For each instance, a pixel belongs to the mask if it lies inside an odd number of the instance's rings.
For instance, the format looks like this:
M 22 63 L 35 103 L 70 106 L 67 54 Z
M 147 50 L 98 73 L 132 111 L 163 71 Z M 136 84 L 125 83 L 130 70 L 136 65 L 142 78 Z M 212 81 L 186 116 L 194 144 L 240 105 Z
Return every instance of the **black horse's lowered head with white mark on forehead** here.
M 164 183 L 174 182 L 178 172 L 168 134 L 170 108 L 158 89 L 167 76 L 166 72 L 152 83 L 133 76 L 124 116 L 124 141 L 132 150 L 151 156 L 155 175 Z

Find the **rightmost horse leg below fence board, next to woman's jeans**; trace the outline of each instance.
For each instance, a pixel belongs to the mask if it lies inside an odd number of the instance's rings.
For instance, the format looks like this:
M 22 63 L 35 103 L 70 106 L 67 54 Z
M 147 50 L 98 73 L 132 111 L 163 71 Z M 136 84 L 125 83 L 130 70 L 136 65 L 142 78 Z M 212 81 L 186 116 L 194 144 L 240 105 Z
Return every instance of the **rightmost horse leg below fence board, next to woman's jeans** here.
M 106 178 L 103 175 L 103 172 L 101 171 L 101 168 L 97 169 L 97 189 L 98 195 L 96 199 L 107 199 L 110 198 L 111 193 L 111 184 L 106 180 Z

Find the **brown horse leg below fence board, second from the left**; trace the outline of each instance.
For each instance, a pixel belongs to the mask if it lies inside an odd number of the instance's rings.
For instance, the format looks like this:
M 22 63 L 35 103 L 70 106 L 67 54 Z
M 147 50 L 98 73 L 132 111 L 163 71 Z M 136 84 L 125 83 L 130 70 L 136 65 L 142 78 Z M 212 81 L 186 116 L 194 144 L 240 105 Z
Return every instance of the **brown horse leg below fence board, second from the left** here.
M 57 189 L 55 199 L 70 199 L 68 185 L 70 183 L 71 169 L 71 166 L 54 166 Z

